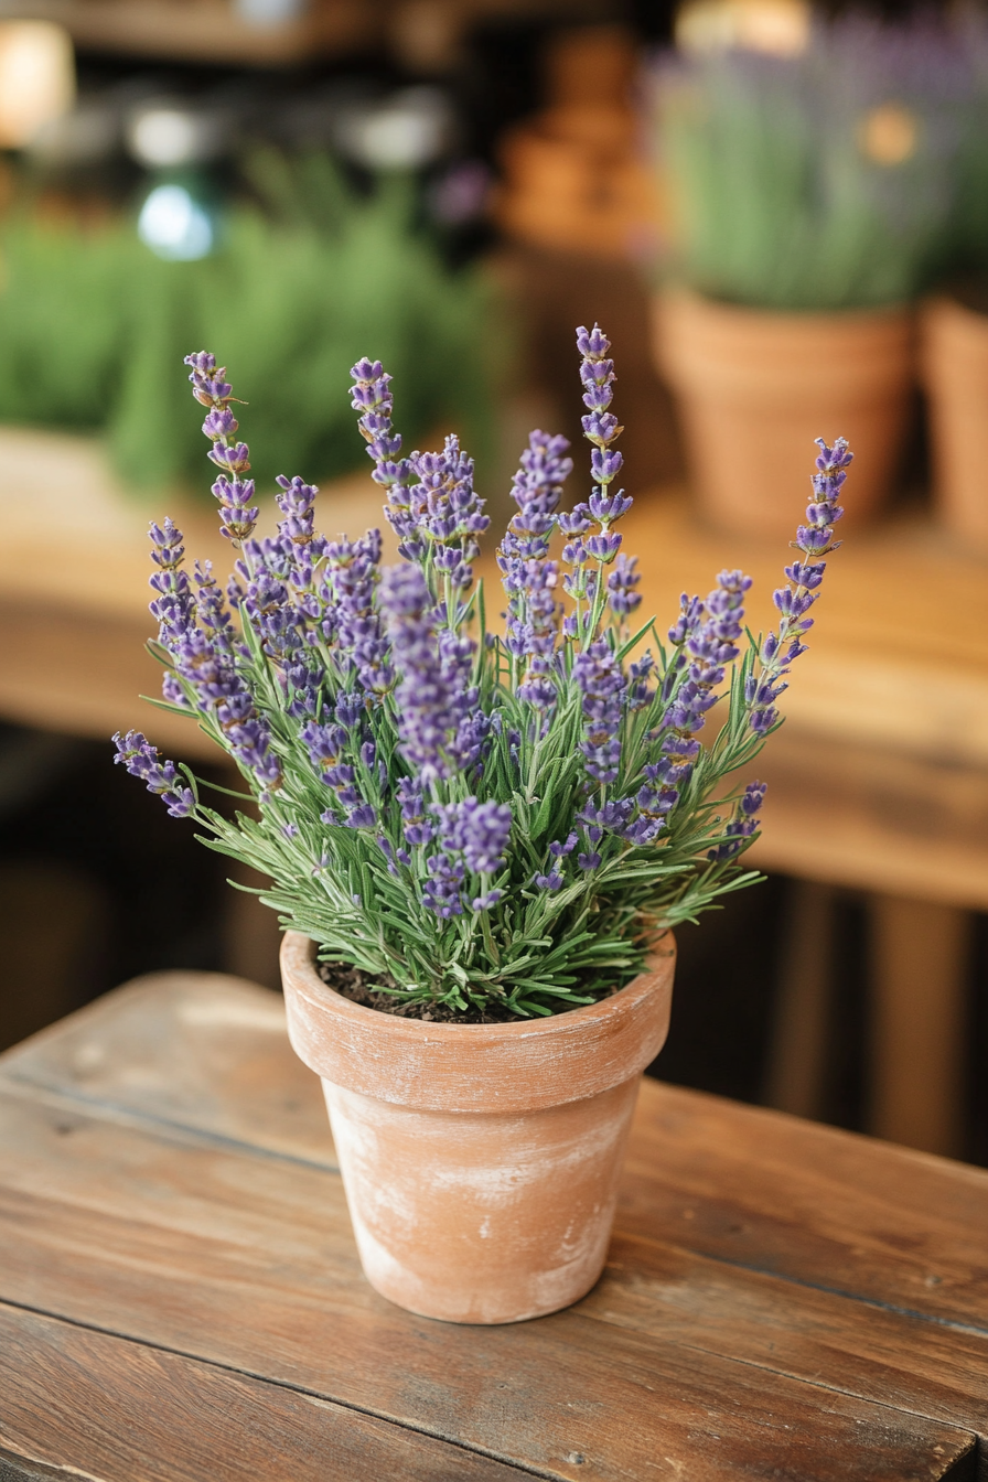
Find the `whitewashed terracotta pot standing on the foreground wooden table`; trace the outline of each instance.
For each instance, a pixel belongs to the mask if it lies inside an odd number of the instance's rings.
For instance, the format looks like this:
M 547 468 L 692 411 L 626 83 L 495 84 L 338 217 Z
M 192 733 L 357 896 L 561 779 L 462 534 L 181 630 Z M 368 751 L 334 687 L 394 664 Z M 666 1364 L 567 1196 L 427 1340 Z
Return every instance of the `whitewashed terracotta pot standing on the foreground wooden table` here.
M 600 1003 L 427 1024 L 326 987 L 287 932 L 289 1037 L 323 1080 L 367 1280 L 449 1322 L 567 1307 L 607 1254 L 641 1071 L 665 1042 L 675 944 Z

